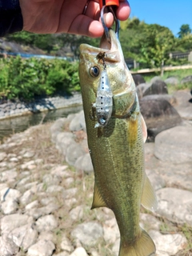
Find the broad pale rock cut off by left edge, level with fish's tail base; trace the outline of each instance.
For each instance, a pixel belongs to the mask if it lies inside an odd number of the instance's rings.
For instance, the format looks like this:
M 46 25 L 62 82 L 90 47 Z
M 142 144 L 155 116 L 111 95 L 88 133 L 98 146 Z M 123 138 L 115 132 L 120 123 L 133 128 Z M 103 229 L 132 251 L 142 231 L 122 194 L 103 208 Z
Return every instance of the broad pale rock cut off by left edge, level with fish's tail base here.
M 32 224 L 33 218 L 24 214 L 10 214 L 4 216 L 1 219 L 2 234 L 10 233 L 11 230 L 14 230 L 19 226 L 24 226 L 27 223 Z

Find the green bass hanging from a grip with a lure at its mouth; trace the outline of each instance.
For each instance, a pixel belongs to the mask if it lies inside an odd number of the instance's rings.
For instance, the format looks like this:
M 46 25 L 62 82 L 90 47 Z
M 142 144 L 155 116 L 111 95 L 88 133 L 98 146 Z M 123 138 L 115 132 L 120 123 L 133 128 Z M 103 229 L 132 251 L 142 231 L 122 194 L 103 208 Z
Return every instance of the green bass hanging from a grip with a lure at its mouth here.
M 154 242 L 139 226 L 141 205 L 151 211 L 158 206 L 145 172 L 146 124 L 118 36 L 112 29 L 109 34 L 110 42 L 103 34 L 99 47 L 87 44 L 79 47 L 79 81 L 88 147 L 94 166 L 91 209 L 108 207 L 114 212 L 120 231 L 119 256 L 151 256 L 155 255 Z M 99 94 L 101 82 L 104 82 L 106 95 L 103 109 L 101 102 L 100 105 L 97 103 L 102 97 Z M 108 82 L 112 97 L 106 93 Z M 97 107 L 104 111 L 102 117 Z M 106 123 L 102 123 L 99 118 L 105 114 Z

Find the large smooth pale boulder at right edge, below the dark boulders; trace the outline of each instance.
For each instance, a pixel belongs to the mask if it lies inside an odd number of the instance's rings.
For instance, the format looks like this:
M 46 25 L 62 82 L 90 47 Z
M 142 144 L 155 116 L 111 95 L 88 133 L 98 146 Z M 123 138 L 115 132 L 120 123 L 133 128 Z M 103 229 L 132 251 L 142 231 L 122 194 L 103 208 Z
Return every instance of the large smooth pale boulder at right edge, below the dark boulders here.
M 191 134 L 192 126 L 177 126 L 163 131 L 155 138 L 154 155 L 163 162 L 192 162 Z

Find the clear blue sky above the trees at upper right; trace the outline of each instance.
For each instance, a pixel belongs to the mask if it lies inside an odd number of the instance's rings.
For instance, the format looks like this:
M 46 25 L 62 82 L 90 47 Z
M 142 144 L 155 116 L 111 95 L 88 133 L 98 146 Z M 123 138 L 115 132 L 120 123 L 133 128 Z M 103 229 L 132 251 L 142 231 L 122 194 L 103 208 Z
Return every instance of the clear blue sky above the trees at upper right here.
M 183 24 L 192 30 L 192 0 L 129 0 L 130 18 L 167 26 L 177 36 Z

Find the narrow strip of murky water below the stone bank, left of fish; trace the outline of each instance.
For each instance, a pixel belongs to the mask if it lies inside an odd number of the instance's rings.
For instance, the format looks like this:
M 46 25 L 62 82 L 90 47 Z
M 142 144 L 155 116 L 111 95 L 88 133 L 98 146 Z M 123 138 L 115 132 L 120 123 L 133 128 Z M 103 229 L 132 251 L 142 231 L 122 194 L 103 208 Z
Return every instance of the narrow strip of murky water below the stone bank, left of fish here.
M 7 118 L 0 120 L 0 140 L 11 134 L 22 132 L 30 126 L 54 121 L 58 118 L 65 118 L 68 114 L 74 114 L 82 110 L 82 106 L 71 106 L 59 110 L 50 110 L 37 114 L 29 114 L 16 118 Z

